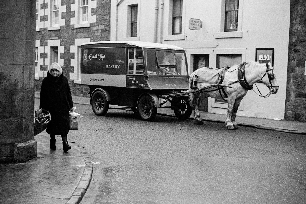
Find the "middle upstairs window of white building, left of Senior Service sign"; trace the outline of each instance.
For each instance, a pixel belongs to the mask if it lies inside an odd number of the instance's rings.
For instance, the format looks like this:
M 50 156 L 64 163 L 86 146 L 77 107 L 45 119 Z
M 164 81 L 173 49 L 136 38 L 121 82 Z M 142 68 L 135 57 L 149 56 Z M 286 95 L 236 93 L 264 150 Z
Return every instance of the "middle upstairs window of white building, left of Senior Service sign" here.
M 172 35 L 182 34 L 182 2 L 183 0 L 173 0 Z

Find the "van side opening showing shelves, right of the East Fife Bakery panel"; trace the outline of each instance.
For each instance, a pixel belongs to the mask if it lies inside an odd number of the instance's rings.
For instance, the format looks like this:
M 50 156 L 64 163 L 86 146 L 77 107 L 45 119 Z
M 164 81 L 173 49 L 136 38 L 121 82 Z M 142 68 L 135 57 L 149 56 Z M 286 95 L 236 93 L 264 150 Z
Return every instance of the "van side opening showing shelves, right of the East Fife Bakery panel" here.
M 144 57 L 141 48 L 128 49 L 128 74 L 144 75 Z

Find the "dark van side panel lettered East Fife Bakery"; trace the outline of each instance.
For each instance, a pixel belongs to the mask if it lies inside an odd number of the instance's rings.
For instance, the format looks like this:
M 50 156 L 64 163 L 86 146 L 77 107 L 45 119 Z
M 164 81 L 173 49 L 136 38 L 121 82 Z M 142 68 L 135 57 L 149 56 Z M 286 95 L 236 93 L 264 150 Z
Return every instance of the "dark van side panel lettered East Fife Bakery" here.
M 82 49 L 81 73 L 125 74 L 125 48 Z

